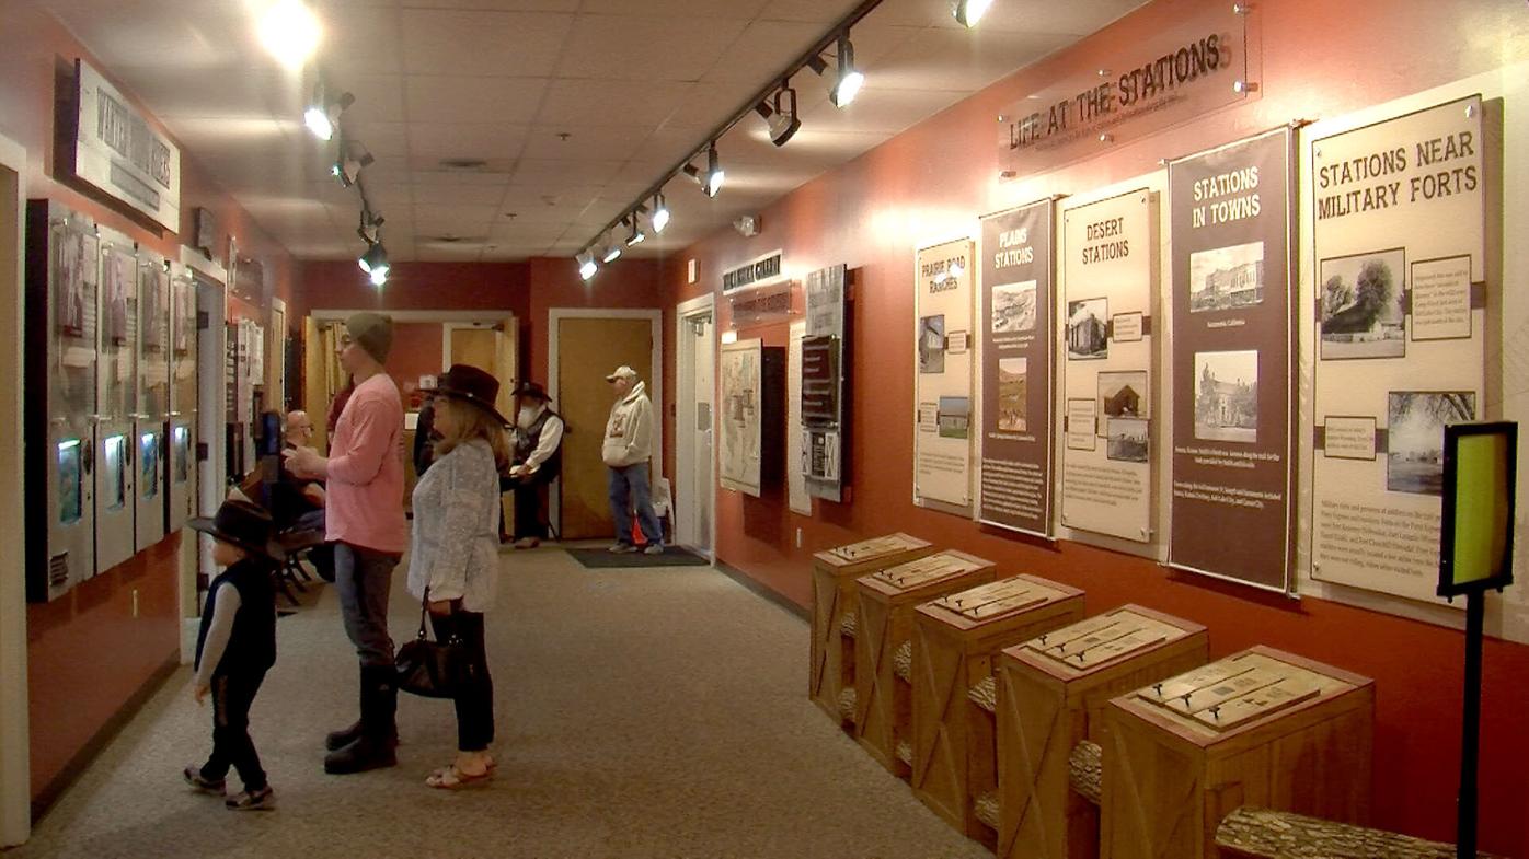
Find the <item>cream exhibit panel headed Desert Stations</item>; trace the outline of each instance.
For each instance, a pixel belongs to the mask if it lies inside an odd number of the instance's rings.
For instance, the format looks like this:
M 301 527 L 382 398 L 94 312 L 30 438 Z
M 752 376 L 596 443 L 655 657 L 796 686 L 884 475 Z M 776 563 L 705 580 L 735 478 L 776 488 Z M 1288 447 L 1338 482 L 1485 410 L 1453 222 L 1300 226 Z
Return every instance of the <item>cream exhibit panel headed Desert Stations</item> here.
M 1067 445 L 1061 468 L 1061 523 L 1138 543 L 1151 541 L 1156 200 L 1147 190 L 1063 214 L 1063 390 Z M 1112 319 L 1130 318 L 1130 341 Z M 1093 434 L 1073 426 L 1095 410 Z M 1078 423 L 1084 423 L 1078 420 Z

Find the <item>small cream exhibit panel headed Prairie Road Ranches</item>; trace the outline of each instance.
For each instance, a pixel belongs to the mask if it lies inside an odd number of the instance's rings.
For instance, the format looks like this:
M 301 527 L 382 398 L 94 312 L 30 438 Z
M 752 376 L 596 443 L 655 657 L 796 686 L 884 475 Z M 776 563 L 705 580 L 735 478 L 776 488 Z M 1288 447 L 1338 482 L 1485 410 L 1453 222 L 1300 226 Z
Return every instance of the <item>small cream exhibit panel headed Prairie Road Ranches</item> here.
M 971 240 L 914 264 L 913 501 L 971 506 Z

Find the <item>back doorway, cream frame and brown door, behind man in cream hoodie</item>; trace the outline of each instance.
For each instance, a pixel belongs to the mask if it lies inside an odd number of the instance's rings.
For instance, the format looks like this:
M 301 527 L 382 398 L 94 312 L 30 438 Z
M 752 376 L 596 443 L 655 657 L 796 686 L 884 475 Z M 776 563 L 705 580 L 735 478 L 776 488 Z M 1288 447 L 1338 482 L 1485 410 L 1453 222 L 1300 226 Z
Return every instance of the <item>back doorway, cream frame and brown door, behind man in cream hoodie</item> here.
M 558 480 L 558 532 L 564 540 L 612 538 L 610 501 L 601 446 L 610 417 L 605 374 L 625 364 L 638 371 L 653 400 L 653 478 L 662 465 L 661 310 L 550 310 L 549 384 L 563 414 L 563 477 Z M 654 497 L 657 491 L 654 489 Z

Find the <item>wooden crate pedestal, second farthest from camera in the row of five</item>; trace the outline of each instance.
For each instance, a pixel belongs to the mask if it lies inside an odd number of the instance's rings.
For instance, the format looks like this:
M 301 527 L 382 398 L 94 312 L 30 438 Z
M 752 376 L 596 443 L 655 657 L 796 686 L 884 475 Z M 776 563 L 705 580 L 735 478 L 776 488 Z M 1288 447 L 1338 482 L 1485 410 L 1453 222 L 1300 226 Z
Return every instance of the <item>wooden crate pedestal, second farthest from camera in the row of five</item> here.
M 894 663 L 898 651 L 911 645 L 913 610 L 936 596 L 991 582 L 997 573 L 992 561 L 951 549 L 856 582 L 855 738 L 899 778 L 908 778 L 913 764 L 910 679 L 917 666 L 899 677 Z

